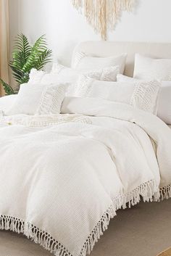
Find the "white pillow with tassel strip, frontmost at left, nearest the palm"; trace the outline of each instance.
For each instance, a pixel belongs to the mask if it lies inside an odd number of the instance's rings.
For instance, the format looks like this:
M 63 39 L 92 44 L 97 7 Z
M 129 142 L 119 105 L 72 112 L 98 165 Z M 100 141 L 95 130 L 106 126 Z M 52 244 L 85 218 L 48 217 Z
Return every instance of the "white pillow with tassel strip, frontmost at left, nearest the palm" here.
M 31 84 L 23 83 L 17 99 L 5 115 L 46 115 L 60 112 L 64 99 L 65 87 L 63 84 Z

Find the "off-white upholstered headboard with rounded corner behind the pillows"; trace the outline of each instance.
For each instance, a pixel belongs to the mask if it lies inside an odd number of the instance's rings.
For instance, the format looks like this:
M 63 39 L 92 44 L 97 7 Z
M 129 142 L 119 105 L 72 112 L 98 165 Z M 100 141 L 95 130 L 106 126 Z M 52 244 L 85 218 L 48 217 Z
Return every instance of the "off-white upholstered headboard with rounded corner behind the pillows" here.
M 97 57 L 107 57 L 127 53 L 128 57 L 124 74 L 128 76 L 133 76 L 135 53 L 156 58 L 171 59 L 171 43 L 84 41 L 75 47 L 72 55 L 72 61 L 75 58 L 75 52 L 77 51 L 83 51 L 88 55 Z

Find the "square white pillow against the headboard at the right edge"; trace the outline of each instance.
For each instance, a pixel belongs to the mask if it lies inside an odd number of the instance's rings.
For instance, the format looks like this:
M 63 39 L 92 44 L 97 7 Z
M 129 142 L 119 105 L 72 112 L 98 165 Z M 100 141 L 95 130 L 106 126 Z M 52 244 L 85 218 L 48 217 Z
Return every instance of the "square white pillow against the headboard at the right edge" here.
M 171 59 L 153 59 L 135 54 L 133 77 L 141 80 L 171 80 Z

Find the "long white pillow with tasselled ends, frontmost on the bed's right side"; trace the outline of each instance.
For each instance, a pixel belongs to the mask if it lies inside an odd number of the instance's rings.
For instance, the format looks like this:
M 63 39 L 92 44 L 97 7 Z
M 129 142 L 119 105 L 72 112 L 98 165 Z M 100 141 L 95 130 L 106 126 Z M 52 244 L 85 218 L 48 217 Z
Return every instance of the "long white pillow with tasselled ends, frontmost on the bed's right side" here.
M 78 80 L 75 96 L 108 99 L 155 113 L 159 88 L 157 80 L 128 84 L 99 81 L 82 75 Z

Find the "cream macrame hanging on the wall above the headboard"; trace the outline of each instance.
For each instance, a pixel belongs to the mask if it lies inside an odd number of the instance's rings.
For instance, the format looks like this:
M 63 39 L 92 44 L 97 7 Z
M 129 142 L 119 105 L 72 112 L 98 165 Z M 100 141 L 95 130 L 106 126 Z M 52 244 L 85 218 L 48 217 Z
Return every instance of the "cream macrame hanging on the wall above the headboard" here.
M 133 11 L 135 0 L 72 0 L 72 4 L 84 13 L 95 32 L 107 40 L 107 30 L 114 30 L 123 11 Z

